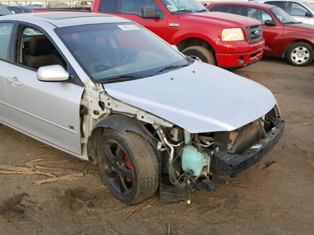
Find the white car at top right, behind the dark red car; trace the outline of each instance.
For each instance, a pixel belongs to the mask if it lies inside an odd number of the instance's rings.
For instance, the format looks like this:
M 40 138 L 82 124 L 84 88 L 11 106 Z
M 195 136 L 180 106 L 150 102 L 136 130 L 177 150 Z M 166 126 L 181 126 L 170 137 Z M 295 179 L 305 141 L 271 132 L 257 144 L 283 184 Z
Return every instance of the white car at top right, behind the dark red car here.
M 278 6 L 292 16 L 296 21 L 314 24 L 314 5 L 299 0 L 249 0 Z

